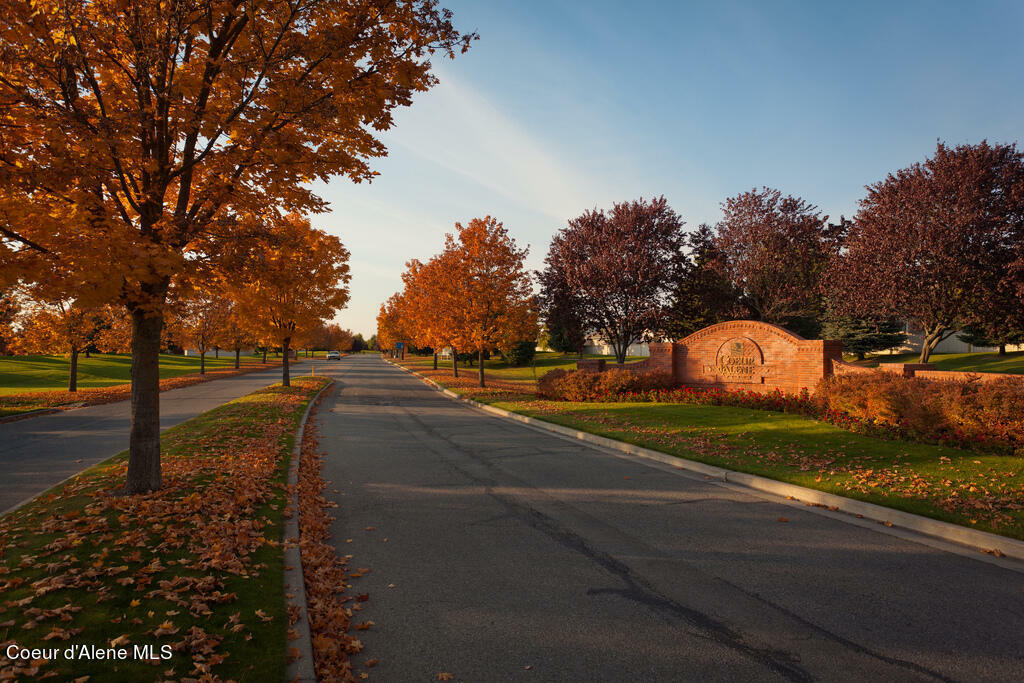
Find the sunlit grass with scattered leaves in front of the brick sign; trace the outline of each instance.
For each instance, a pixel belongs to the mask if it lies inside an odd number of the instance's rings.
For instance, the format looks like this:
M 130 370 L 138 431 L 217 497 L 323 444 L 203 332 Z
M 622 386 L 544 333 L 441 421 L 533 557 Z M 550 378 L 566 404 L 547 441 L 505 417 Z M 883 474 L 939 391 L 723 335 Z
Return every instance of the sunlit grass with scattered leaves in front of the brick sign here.
M 420 360 L 420 359 L 418 359 Z M 784 413 L 539 399 L 531 383 L 407 362 L 481 402 L 670 455 L 1024 540 L 1024 459 L 886 440 Z

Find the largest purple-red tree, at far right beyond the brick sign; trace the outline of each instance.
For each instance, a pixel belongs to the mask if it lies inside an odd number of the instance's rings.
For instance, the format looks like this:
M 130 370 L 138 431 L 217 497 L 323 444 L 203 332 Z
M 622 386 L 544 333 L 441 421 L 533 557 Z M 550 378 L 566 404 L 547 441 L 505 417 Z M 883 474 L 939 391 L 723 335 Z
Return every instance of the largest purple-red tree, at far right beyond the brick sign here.
M 938 143 L 924 163 L 867 187 L 828 273 L 833 305 L 840 314 L 910 323 L 924 334 L 928 362 L 957 329 L 1020 309 L 1008 291 L 1024 243 L 1022 206 L 1016 145 Z

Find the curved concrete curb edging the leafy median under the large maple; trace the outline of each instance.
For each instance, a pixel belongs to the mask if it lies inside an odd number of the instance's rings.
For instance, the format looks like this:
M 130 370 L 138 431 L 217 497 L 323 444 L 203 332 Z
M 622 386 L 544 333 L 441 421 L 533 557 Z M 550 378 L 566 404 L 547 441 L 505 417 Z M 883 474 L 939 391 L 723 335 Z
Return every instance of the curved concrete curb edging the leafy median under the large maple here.
M 296 432 L 295 447 L 292 449 L 292 462 L 288 466 L 288 485 L 292 487 L 292 516 L 285 519 L 285 598 L 289 606 L 298 607 L 299 618 L 295 623 L 295 631 L 299 637 L 290 641 L 291 647 L 299 650 L 299 657 L 288 664 L 288 680 L 293 683 L 315 683 L 316 667 L 313 660 L 313 643 L 309 632 L 309 612 L 306 608 L 306 582 L 302 577 L 302 553 L 299 550 L 299 460 L 302 456 L 302 437 L 305 434 L 309 414 L 325 391 L 334 386 L 330 380 L 316 395 L 309 399 L 306 412 L 299 422 Z M 295 539 L 295 543 L 288 543 Z M 287 644 L 286 644 L 287 646 Z

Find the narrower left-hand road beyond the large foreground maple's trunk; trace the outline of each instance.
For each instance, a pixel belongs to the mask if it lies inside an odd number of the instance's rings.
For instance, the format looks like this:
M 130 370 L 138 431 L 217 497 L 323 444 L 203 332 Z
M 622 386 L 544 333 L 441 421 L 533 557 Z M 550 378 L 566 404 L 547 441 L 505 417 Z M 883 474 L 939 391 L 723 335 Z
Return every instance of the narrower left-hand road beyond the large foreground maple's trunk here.
M 300 373 L 306 365 L 298 366 Z M 281 368 L 225 377 L 160 394 L 160 426 L 173 427 L 281 381 Z M 128 449 L 129 401 L 0 424 L 0 512 Z

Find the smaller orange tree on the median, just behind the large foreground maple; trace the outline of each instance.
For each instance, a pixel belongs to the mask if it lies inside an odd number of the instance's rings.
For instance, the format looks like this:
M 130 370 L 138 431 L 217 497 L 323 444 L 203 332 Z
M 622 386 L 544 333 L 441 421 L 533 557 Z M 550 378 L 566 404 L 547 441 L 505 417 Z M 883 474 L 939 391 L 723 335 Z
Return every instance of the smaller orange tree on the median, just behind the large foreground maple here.
M 348 250 L 333 234 L 310 227 L 298 214 L 272 219 L 269 246 L 240 256 L 247 276 L 234 299 L 260 336 L 283 353 L 281 382 L 291 386 L 293 340 L 304 338 L 348 303 Z

